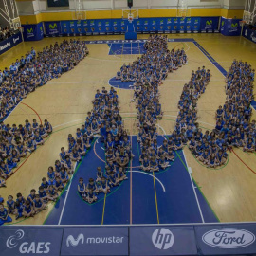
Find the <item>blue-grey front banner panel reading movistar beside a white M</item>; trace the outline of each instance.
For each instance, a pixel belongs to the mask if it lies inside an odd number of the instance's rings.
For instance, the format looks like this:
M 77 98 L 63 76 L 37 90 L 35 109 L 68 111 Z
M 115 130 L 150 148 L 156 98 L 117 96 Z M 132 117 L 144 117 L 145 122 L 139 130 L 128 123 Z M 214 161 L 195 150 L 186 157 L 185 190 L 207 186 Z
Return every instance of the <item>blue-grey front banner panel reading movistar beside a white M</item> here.
M 128 255 L 128 228 L 64 228 L 61 255 Z

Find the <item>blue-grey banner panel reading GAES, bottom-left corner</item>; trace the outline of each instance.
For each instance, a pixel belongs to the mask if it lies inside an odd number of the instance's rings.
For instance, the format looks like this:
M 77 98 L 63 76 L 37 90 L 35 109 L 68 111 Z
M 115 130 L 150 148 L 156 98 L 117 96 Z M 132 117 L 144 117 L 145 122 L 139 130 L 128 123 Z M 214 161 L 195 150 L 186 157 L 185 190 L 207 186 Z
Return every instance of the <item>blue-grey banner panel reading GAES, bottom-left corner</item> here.
M 1 255 L 48 255 L 60 253 L 63 229 L 1 229 Z

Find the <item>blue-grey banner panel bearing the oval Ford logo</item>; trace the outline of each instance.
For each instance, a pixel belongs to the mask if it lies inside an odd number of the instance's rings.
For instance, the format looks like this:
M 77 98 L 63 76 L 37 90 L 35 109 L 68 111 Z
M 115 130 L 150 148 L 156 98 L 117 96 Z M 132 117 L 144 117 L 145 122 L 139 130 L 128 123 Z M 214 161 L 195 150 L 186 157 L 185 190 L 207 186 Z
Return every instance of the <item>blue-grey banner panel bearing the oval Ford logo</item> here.
M 256 227 L 251 224 L 195 227 L 200 253 L 203 255 L 236 255 L 256 252 Z

